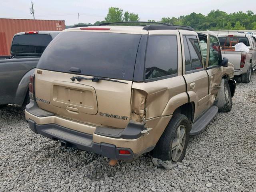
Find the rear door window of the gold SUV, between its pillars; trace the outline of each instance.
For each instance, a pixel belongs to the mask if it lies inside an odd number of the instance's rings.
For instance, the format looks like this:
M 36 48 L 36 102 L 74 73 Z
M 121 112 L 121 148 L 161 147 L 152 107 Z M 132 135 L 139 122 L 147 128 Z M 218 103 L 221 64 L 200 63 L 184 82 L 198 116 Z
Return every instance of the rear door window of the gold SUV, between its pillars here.
M 200 46 L 196 36 L 188 35 L 186 36 L 186 39 L 188 42 L 188 49 L 190 52 L 192 70 L 203 68 Z

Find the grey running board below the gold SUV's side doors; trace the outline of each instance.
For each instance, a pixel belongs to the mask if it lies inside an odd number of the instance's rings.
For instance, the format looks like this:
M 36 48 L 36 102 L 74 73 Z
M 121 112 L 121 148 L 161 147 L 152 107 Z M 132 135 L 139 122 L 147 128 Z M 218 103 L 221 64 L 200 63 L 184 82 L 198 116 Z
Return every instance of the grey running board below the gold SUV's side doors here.
M 217 113 L 218 113 L 217 106 L 214 105 L 211 108 L 209 108 L 206 112 L 204 112 L 202 116 L 200 116 L 198 120 L 196 120 L 196 122 L 193 123 L 192 129 L 189 134 L 196 135 L 202 130 L 204 130 L 204 128 L 206 128 L 206 126 L 211 122 L 211 120 L 214 118 L 214 116 Z

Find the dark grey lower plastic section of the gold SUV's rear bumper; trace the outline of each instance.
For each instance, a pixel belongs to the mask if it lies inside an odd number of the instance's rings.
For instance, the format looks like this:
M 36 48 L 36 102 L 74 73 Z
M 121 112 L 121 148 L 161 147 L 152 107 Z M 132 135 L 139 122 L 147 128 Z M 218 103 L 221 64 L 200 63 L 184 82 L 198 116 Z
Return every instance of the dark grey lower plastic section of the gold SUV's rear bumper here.
M 72 147 L 79 150 L 94 152 L 110 159 L 124 160 L 131 162 L 137 157 L 130 148 L 118 148 L 113 144 L 95 143 L 92 141 L 92 135 L 71 130 L 56 124 L 39 125 L 33 120 L 28 120 L 30 129 L 42 136 L 52 140 L 66 142 L 66 147 Z M 119 154 L 119 150 L 128 150 L 130 154 Z

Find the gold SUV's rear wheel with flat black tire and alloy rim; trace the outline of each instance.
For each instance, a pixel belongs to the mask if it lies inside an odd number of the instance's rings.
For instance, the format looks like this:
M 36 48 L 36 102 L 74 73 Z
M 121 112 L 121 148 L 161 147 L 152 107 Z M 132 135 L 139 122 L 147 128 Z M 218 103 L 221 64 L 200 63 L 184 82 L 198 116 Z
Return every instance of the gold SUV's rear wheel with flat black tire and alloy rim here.
M 190 123 L 183 114 L 174 114 L 152 151 L 152 162 L 165 169 L 184 159 L 189 140 Z

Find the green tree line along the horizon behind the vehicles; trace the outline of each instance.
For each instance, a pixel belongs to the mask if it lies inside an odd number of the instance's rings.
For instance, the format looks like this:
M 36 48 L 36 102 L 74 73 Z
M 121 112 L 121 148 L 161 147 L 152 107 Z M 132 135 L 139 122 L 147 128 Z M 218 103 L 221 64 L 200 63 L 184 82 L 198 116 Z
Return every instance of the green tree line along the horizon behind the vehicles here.
M 77 25 L 98 25 L 105 22 L 140 21 L 138 14 L 110 7 L 104 21 L 92 23 L 79 23 Z M 191 13 L 186 16 L 163 17 L 160 21 L 148 20 L 149 22 L 165 22 L 174 25 L 191 26 L 195 30 L 256 30 L 256 14 L 251 10 L 247 12 L 226 13 L 221 10 L 212 10 L 207 15 Z M 72 26 L 66 26 L 70 28 Z

